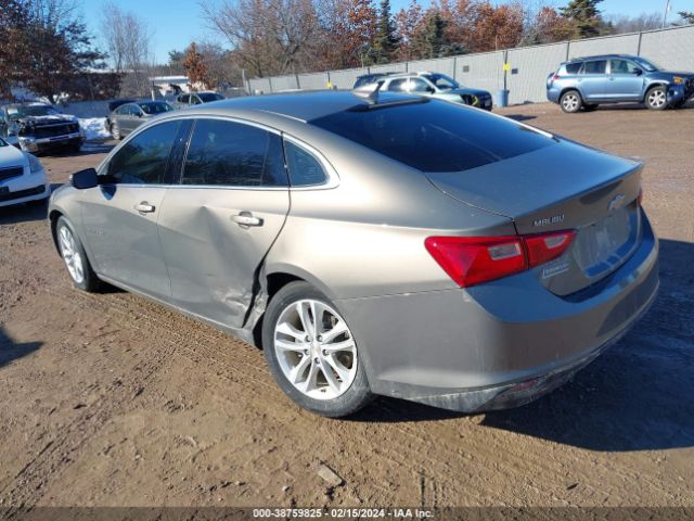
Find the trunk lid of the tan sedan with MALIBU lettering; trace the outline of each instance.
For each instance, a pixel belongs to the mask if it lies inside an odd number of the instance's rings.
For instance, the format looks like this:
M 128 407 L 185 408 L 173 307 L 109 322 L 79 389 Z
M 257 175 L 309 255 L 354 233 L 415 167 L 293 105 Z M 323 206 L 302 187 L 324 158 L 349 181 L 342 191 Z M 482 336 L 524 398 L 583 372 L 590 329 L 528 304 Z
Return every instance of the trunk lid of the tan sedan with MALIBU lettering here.
M 562 257 L 536 269 L 550 291 L 568 295 L 608 276 L 638 246 L 641 168 L 562 140 L 465 171 L 426 175 L 448 195 L 513 219 L 519 234 L 576 230 Z

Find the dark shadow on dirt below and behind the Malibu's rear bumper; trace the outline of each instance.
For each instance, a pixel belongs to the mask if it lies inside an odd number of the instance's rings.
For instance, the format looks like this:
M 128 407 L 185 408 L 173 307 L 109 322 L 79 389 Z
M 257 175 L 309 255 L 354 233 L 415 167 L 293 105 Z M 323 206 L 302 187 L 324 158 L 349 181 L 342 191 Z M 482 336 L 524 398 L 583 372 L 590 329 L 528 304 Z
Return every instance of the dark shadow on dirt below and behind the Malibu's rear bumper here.
M 694 446 L 694 243 L 660 241 L 660 293 L 648 314 L 573 382 L 481 425 L 591 450 Z M 462 415 L 378 398 L 357 421 Z

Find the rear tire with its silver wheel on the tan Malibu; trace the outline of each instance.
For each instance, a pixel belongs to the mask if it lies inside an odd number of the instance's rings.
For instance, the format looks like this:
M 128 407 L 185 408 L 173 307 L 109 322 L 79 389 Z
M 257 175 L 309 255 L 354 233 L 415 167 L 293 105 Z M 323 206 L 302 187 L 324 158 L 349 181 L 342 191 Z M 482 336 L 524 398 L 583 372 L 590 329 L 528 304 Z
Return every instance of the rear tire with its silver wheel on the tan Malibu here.
M 318 333 L 322 335 L 313 334 L 313 313 L 321 316 Z M 307 282 L 291 282 L 272 297 L 262 320 L 262 346 L 282 391 L 311 412 L 345 417 L 373 398 L 348 325 L 331 301 Z

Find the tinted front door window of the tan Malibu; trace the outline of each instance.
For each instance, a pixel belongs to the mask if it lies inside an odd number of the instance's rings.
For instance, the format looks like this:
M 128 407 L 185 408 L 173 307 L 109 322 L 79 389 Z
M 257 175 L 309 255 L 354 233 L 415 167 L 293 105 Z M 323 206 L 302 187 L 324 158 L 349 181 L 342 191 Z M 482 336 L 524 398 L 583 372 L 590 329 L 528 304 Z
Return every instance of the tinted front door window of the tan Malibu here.
M 160 185 L 181 122 L 166 122 L 126 142 L 106 166 L 106 183 Z

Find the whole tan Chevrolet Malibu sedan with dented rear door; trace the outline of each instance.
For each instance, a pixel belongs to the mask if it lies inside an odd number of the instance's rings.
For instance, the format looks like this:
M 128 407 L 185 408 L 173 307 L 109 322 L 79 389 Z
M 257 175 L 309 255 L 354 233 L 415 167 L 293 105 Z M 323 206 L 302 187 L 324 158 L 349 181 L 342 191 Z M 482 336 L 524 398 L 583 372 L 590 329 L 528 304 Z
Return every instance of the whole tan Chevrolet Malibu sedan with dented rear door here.
M 261 345 L 307 409 L 479 411 L 567 381 L 654 301 L 641 169 L 429 98 L 249 97 L 147 122 L 49 218 L 77 288 Z

